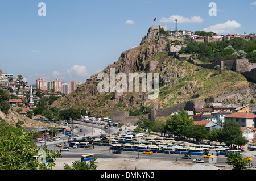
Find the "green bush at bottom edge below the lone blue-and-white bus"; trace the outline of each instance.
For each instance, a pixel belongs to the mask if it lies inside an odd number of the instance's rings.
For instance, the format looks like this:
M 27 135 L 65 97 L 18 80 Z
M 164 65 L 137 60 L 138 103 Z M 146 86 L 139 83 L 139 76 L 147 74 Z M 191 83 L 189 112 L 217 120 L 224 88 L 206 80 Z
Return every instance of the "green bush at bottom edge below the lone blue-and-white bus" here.
M 96 158 L 94 157 L 89 163 L 82 161 L 72 162 L 72 167 L 68 164 L 64 165 L 64 170 L 96 170 Z

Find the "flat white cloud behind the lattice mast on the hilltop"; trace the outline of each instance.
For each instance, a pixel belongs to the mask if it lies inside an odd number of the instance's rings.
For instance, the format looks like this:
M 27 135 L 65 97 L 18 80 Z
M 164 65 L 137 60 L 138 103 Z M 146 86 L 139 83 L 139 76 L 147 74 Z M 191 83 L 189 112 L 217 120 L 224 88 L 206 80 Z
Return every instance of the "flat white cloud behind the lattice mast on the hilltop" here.
M 175 23 L 175 19 L 177 19 L 178 23 L 200 23 L 203 22 L 203 18 L 201 18 L 200 16 L 192 16 L 191 18 L 185 18 L 183 16 L 179 16 L 179 15 L 172 15 L 169 18 L 161 18 L 160 22 L 162 23 Z

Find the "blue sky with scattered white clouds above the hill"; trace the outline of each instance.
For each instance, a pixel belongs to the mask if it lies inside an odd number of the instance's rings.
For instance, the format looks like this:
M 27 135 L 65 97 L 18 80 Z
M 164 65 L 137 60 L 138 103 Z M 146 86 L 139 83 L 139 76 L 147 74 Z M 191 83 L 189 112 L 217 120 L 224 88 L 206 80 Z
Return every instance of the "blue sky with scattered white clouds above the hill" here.
M 255 12 L 255 0 L 1 0 L 0 69 L 29 84 L 84 83 L 138 46 L 151 25 L 175 30 L 177 19 L 179 30 L 249 34 Z

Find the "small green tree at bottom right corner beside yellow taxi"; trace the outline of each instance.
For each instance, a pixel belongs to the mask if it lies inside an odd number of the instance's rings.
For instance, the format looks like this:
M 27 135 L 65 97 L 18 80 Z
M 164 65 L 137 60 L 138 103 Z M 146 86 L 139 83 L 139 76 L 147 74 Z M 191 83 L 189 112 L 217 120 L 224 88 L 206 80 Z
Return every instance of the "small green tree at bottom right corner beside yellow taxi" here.
M 229 152 L 226 163 L 233 165 L 233 170 L 245 170 L 249 161 L 243 159 L 242 155 Z

